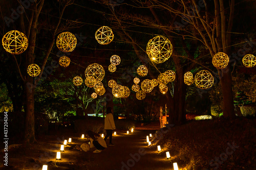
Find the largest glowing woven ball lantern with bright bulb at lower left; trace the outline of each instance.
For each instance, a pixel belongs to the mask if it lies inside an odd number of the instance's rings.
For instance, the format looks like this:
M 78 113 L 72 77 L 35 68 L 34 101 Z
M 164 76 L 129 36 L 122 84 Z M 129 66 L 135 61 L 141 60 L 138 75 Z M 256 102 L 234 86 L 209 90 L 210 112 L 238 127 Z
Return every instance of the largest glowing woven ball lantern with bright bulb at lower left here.
M 164 36 L 156 36 L 148 41 L 146 53 L 155 63 L 163 63 L 173 53 L 173 45 L 170 40 Z

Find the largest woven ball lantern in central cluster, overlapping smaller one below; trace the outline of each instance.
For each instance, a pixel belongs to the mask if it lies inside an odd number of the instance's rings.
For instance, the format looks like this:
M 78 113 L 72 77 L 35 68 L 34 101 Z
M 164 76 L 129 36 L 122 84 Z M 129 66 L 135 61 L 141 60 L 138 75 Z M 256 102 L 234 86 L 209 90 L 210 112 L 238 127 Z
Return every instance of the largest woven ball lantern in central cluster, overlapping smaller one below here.
M 90 64 L 84 73 L 86 77 L 92 76 L 96 81 L 103 80 L 105 76 L 104 68 L 97 63 Z

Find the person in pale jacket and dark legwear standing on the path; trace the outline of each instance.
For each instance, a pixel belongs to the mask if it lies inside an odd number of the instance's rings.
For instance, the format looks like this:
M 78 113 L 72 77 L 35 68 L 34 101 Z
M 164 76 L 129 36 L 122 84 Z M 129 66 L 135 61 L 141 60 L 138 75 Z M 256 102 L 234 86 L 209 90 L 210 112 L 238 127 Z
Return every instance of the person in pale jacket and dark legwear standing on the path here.
M 106 139 L 108 139 L 108 137 L 110 137 L 109 145 L 113 146 L 114 144 L 112 143 L 112 133 L 113 133 L 113 129 L 116 129 L 116 126 L 115 126 L 113 112 L 112 112 L 111 107 L 106 108 L 104 129 L 106 130 L 106 136 L 105 136 L 104 140 L 106 141 Z

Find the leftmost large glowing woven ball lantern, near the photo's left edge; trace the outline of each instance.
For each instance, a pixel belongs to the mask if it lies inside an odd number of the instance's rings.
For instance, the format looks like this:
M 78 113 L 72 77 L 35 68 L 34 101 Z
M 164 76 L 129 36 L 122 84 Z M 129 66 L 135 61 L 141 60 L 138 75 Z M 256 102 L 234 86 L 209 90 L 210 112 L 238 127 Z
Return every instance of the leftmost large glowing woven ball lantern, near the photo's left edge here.
M 22 54 L 28 47 L 28 38 L 22 32 L 9 31 L 2 38 L 5 51 L 11 54 Z

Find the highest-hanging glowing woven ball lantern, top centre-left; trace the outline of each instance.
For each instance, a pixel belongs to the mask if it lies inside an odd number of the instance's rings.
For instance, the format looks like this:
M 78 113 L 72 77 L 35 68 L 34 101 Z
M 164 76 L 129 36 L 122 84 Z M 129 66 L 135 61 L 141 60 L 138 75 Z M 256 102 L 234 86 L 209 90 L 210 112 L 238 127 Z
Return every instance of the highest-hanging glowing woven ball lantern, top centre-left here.
M 114 34 L 111 28 L 102 26 L 96 31 L 95 38 L 98 41 L 98 43 L 106 45 L 111 43 L 111 41 L 114 39 Z

